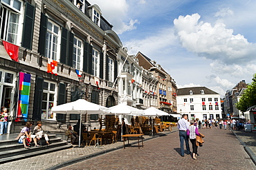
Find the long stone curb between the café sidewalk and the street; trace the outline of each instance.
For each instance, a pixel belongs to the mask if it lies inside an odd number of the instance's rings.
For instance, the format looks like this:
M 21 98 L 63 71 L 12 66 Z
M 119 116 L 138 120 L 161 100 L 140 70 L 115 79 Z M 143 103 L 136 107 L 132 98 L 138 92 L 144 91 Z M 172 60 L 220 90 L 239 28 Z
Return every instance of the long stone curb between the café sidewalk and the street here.
M 158 138 L 158 137 L 161 137 L 161 136 L 166 136 L 167 134 L 172 134 L 172 133 L 174 133 L 174 132 L 176 132 L 176 131 L 178 131 L 178 130 L 170 131 L 170 132 L 167 132 L 166 134 L 160 134 L 159 136 L 151 136 L 152 138 L 147 138 L 147 139 L 143 140 L 143 142 L 144 142 L 144 141 L 147 141 L 147 140 L 154 139 L 154 138 Z M 134 142 L 129 143 L 129 145 L 134 145 L 134 144 L 136 144 L 136 143 L 138 143 L 138 142 L 137 142 L 137 141 L 134 141 Z M 125 145 L 125 146 L 127 146 L 127 145 Z M 95 156 L 100 156 L 100 155 L 102 155 L 102 154 L 104 154 L 104 153 L 109 153 L 109 152 L 111 152 L 111 151 L 116 151 L 116 150 L 122 149 L 122 148 L 123 148 L 123 145 L 120 145 L 119 147 L 114 147 L 114 148 L 106 149 L 106 150 L 104 150 L 104 151 L 98 151 L 98 152 L 96 152 L 96 153 L 91 153 L 91 154 L 89 154 L 89 155 L 87 155 L 87 156 L 82 156 L 82 157 L 80 157 L 80 158 L 75 158 L 75 159 L 73 159 L 73 160 L 68 160 L 68 161 L 66 161 L 66 162 L 62 162 L 62 163 L 60 163 L 60 164 L 56 164 L 55 166 L 53 166 L 53 167 L 51 167 L 51 168 L 48 168 L 48 169 L 46 169 L 46 170 L 60 169 L 60 168 L 62 168 L 62 167 L 66 167 L 66 166 L 69 166 L 69 165 L 71 165 L 71 164 L 75 164 L 75 163 L 78 163 L 78 162 L 82 162 L 82 161 L 84 161 L 84 160 L 88 160 L 88 159 L 90 159 L 90 158 L 94 158 Z

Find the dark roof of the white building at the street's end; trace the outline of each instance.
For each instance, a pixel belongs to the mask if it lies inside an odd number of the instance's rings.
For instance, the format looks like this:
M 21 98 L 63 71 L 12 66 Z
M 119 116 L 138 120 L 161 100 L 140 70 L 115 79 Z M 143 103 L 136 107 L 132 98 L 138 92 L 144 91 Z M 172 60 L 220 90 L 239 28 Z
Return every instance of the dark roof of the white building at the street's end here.
M 201 90 L 203 89 L 204 94 L 218 94 L 217 92 L 208 89 L 207 87 L 186 87 L 177 89 L 177 96 L 190 95 L 190 90 L 192 90 L 194 94 L 201 94 Z

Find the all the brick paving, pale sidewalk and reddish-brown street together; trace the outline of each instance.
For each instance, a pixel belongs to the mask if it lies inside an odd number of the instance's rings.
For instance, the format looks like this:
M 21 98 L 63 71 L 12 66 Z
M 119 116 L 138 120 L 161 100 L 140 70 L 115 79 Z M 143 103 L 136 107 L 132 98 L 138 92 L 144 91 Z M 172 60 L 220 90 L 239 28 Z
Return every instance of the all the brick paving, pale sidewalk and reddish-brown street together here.
M 1 162 L 0 169 L 57 169 L 58 165 L 68 164 L 71 166 L 62 169 L 256 169 L 232 131 L 201 129 L 200 132 L 205 135 L 205 144 L 199 147 L 197 160 L 188 155 L 181 157 L 179 133 L 165 131 L 165 136 L 145 136 L 145 139 L 152 139 L 145 141 L 145 146 L 140 149 L 136 144 L 122 149 L 122 142 L 99 148 L 73 147 L 14 162 Z M 245 133 L 245 137 L 242 131 L 237 136 L 255 148 L 255 141 L 252 141 L 255 138 L 250 137 L 255 133 Z M 82 162 L 73 164 L 80 160 Z

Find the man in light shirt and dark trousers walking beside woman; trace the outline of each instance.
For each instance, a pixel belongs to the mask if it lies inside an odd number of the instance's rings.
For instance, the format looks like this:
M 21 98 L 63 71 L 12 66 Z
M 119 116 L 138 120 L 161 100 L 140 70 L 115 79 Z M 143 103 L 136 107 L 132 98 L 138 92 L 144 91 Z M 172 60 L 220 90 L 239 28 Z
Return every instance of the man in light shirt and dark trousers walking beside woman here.
M 179 129 L 179 137 L 180 137 L 180 142 L 181 142 L 181 156 L 184 156 L 184 140 L 185 140 L 185 145 L 187 149 L 187 154 L 189 155 L 190 152 L 190 145 L 188 143 L 188 136 L 187 136 L 187 130 L 188 127 L 190 126 L 190 123 L 188 123 L 188 116 L 186 114 L 182 115 L 182 118 L 178 121 L 178 129 Z

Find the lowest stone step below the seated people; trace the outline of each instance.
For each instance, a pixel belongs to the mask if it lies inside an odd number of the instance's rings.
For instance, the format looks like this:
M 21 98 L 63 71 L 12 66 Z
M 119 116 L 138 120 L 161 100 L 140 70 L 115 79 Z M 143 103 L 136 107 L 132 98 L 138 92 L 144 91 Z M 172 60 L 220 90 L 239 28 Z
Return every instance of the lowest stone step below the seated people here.
M 61 145 L 61 146 L 57 146 L 57 147 L 51 147 L 51 145 L 48 146 L 48 147 L 46 147 L 46 146 L 37 147 L 40 150 L 34 150 L 33 148 L 32 149 L 24 149 L 23 148 L 22 150 L 25 150 L 27 152 L 20 153 L 19 151 L 17 151 L 17 153 L 15 153 L 15 155 L 0 158 L 0 162 L 1 163 L 3 163 L 3 162 L 4 163 L 12 162 L 14 160 L 21 160 L 21 159 L 24 159 L 24 158 L 30 158 L 32 156 L 42 155 L 42 154 L 53 152 L 53 151 L 60 151 L 62 149 L 68 149 L 68 148 L 72 147 L 72 145 L 70 143 L 66 143 L 66 141 L 64 141 L 64 142 L 65 142 L 65 145 Z

